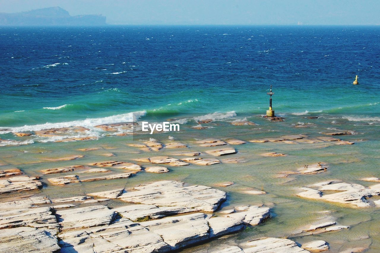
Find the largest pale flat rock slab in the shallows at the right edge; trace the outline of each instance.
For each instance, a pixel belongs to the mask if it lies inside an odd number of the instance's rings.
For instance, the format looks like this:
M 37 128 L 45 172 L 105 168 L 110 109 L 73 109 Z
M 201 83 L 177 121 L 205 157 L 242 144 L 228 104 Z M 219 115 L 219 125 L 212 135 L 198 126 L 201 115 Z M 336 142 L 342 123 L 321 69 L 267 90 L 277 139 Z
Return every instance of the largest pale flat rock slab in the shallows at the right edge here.
M 349 207 L 369 207 L 371 204 L 366 201 L 365 197 L 380 195 L 380 184 L 365 187 L 358 184 L 334 183 L 334 181 L 327 181 L 312 185 L 311 187 L 317 189 L 302 187 L 302 192 L 297 194 L 297 196 L 347 204 Z M 323 191 L 337 192 L 323 194 Z

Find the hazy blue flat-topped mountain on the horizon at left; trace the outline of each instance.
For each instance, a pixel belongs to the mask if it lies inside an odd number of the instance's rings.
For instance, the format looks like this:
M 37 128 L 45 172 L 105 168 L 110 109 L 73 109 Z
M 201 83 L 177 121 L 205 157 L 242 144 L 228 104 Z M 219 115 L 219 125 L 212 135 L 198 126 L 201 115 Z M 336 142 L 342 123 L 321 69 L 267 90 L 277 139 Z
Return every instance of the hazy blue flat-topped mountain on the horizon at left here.
M 60 7 L 19 13 L 0 13 L 0 25 L 105 25 L 106 17 L 98 15 L 70 16 Z

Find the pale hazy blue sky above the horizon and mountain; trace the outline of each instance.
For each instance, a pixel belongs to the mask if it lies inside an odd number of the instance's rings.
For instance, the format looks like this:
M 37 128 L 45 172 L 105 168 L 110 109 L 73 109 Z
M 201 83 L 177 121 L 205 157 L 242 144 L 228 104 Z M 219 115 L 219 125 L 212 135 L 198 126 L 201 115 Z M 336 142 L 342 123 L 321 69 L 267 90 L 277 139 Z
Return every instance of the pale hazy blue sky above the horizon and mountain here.
M 8 13 L 53 6 L 108 24 L 380 24 L 380 0 L 0 0 Z

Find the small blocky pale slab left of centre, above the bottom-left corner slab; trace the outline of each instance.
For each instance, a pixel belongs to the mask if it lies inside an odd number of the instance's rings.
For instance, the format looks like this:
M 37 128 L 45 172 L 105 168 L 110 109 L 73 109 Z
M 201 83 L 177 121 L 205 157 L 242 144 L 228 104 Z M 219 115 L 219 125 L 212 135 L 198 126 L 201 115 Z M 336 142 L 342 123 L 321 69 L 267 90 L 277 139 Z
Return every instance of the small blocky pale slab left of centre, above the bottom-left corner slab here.
M 57 210 L 56 213 L 58 223 L 62 226 L 63 231 L 108 225 L 116 214 L 115 211 L 110 210 L 105 205 Z

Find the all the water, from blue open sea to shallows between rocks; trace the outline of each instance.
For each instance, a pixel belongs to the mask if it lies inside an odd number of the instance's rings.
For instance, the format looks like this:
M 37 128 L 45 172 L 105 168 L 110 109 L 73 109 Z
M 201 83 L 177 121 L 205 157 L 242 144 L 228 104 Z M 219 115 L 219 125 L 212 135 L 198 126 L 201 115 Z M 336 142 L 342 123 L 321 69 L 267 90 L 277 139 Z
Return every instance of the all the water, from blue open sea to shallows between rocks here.
M 218 245 L 241 245 L 263 236 L 288 237 L 299 243 L 326 240 L 331 252 L 351 247 L 380 251 L 378 207 L 350 208 L 296 196 L 300 186 L 342 180 L 371 186 L 363 177 L 380 177 L 380 27 L 0 27 L 0 164 L 17 167 L 41 177 L 40 193 L 51 198 L 127 188 L 157 180 L 182 180 L 222 188 L 228 205 L 265 204 L 271 218 L 260 226 L 184 250 L 204 252 Z M 359 85 L 353 85 L 355 75 Z M 269 122 L 261 115 L 268 109 L 270 84 L 273 107 L 283 122 Z M 309 118 L 319 116 L 319 118 Z M 133 119 L 181 123 L 180 132 L 154 135 L 105 133 L 95 126 Z M 214 119 L 205 130 L 195 130 L 199 119 Z M 249 120 L 255 126 L 234 126 Z M 296 125 L 308 127 L 296 128 Z M 80 136 L 96 140 L 57 143 L 58 137 L 15 137 L 12 132 L 33 132 L 58 127 L 83 126 Z M 176 150 L 146 153 L 128 146 L 150 137 L 162 143 L 172 135 L 204 152 L 195 140 L 202 138 L 258 138 L 305 134 L 310 138 L 337 130 L 354 145 L 323 143 L 247 143 L 234 145 L 242 158 L 238 164 L 211 166 L 190 164 L 168 167 L 170 172 L 139 172 L 134 177 L 52 186 L 40 170 L 108 160 L 131 161 L 148 156 L 174 156 Z M 126 131 L 128 132 L 128 130 Z M 109 136 L 111 135 L 111 136 Z M 73 133 L 67 137 L 78 137 Z M 25 145 L 19 145 L 25 144 Z M 102 147 L 96 151 L 78 151 Z M 186 149 L 181 150 L 186 151 Z M 278 152 L 286 157 L 263 157 Z M 73 161 L 49 158 L 84 155 Z M 109 157 L 113 154 L 114 156 Z M 207 154 L 202 155 L 210 157 Z M 181 158 L 179 156 L 175 156 Z M 329 169 L 317 175 L 276 178 L 279 172 L 303 164 L 323 162 Z M 146 166 L 147 164 L 142 164 Z M 113 172 L 122 172 L 112 169 Z M 81 174 L 82 175 L 82 174 Z M 241 193 L 245 188 L 268 194 Z M 17 194 L 0 196 L 2 200 Z M 379 197 L 369 198 L 369 201 Z M 105 203 L 105 202 L 102 202 Z M 125 205 L 111 200 L 109 207 Z M 332 211 L 339 232 L 298 237 L 294 231 L 315 222 L 325 210 Z

